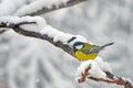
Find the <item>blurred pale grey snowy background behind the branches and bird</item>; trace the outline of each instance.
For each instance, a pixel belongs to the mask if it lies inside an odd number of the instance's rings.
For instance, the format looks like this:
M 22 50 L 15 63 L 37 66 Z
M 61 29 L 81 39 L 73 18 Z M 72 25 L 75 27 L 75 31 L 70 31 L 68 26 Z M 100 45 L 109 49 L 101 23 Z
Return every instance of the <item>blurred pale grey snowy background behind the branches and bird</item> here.
M 32 1 L 38 0 L 0 0 L 0 15 L 13 15 Z M 96 45 L 114 42 L 100 56 L 115 75 L 133 80 L 132 14 L 132 0 L 88 0 L 42 16 L 51 26 L 81 34 Z M 122 88 L 95 81 L 79 85 L 74 80 L 79 64 L 45 41 L 13 31 L 0 35 L 0 88 Z

